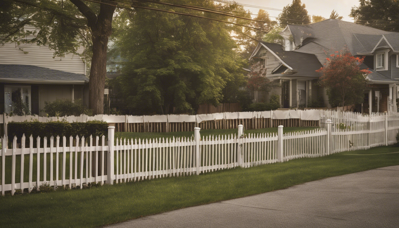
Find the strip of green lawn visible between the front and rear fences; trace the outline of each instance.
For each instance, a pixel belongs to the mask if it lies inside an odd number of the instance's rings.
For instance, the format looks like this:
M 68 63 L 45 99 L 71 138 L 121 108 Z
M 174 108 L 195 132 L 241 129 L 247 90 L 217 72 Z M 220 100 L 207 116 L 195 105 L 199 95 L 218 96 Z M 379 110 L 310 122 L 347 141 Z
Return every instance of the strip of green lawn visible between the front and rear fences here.
M 245 134 L 261 134 L 261 133 L 277 133 L 277 127 L 269 127 L 255 130 L 245 130 Z M 318 129 L 318 127 L 284 127 L 283 132 L 293 132 L 293 131 L 310 131 L 313 129 Z M 238 129 L 215 129 L 215 130 L 201 130 L 201 137 L 207 137 L 211 135 L 231 135 L 238 133 Z M 173 137 L 191 137 L 194 135 L 194 131 L 183 131 L 183 132 L 166 132 L 166 133 L 152 133 L 152 132 L 115 132 L 115 139 L 126 138 L 126 139 L 155 139 L 155 138 L 173 138 Z

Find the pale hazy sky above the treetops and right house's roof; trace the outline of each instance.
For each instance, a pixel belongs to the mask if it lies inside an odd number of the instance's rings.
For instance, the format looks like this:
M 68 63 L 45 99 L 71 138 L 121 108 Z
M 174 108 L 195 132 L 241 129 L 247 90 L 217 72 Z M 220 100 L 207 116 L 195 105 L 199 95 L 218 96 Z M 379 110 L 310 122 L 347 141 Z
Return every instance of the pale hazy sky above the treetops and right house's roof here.
M 291 4 L 292 0 L 235 0 L 238 3 L 249 4 L 255 6 L 263 6 L 269 8 L 282 9 L 284 6 Z M 306 5 L 306 10 L 310 15 L 319 15 L 324 18 L 329 18 L 331 11 L 335 10 L 338 15 L 344 16 L 344 21 L 353 22 L 350 18 L 350 10 L 352 6 L 358 6 L 359 0 L 301 0 L 302 4 Z M 257 13 L 259 8 L 247 7 L 245 9 L 251 10 L 252 13 Z M 279 16 L 281 11 L 267 10 L 270 16 Z

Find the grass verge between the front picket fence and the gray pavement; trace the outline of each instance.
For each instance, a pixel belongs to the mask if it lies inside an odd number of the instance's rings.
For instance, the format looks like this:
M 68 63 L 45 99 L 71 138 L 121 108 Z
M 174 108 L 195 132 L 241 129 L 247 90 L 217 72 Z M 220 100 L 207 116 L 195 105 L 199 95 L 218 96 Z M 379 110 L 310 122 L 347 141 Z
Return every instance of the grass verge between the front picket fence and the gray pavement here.
M 399 165 L 397 147 L 336 153 L 183 176 L 0 197 L 0 227 L 97 227 L 166 212 L 287 188 L 308 181 Z M 355 156 L 349 153 L 380 153 Z

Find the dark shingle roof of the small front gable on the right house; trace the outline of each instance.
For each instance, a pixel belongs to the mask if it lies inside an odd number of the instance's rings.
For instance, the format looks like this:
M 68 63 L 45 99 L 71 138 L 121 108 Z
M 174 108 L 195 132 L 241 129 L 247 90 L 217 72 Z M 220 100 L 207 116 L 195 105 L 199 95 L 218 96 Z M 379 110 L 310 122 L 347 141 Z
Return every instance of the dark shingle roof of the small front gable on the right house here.
M 284 51 L 280 44 L 267 42 L 262 42 L 262 44 L 270 48 L 270 50 L 279 56 L 279 58 L 292 69 L 297 70 L 298 73 L 296 73 L 295 76 L 320 77 L 320 73 L 317 73 L 316 70 L 320 69 L 322 65 L 314 54 Z

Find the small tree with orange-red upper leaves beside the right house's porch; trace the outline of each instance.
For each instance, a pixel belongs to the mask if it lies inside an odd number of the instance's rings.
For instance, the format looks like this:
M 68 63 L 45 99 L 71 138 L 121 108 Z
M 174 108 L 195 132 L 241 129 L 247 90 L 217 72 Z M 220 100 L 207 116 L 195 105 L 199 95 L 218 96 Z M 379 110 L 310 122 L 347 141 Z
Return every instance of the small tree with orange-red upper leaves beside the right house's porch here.
M 324 66 L 316 70 L 322 73 L 318 83 L 327 89 L 332 107 L 363 103 L 366 76 L 371 73 L 368 68 L 360 69 L 363 59 L 364 56 L 352 56 L 346 48 L 331 54 Z

